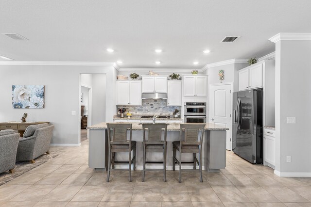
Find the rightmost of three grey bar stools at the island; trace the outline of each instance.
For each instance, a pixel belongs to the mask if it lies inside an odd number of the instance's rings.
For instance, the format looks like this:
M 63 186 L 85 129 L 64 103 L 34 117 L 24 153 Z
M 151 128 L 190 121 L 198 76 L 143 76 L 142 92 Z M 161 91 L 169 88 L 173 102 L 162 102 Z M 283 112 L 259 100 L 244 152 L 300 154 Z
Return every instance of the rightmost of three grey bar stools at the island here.
M 199 164 L 200 182 L 202 179 L 202 142 L 204 137 L 205 124 L 181 124 L 179 132 L 179 141 L 173 142 L 173 171 L 175 164 L 179 164 L 179 182 L 181 182 L 181 154 L 193 153 L 193 170 L 196 170 L 196 163 Z M 184 141 L 182 141 L 182 130 L 185 129 Z M 200 133 L 201 131 L 201 133 Z M 176 150 L 179 152 L 179 161 L 176 158 Z M 199 160 L 196 158 L 199 153 Z

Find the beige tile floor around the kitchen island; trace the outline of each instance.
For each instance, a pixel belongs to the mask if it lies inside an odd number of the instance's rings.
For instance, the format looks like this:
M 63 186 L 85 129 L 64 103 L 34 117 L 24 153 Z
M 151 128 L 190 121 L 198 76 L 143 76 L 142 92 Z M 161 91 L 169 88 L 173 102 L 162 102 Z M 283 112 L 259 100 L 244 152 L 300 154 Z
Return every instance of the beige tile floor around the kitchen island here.
M 88 140 L 80 147 L 52 147 L 60 155 L 0 186 L 0 206 L 23 207 L 310 207 L 311 178 L 278 177 L 273 170 L 252 165 L 227 151 L 220 173 L 168 171 L 105 172 L 87 166 Z

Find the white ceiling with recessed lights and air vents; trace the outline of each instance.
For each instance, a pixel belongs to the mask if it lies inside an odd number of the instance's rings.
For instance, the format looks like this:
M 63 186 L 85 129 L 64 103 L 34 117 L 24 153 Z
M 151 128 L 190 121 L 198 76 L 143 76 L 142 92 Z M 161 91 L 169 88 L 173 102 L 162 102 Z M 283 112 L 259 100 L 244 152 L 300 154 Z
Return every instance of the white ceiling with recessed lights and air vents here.
M 268 39 L 278 32 L 310 33 L 310 11 L 311 0 L 1 0 L 0 55 L 16 61 L 121 60 L 121 67 L 202 68 L 273 52 Z M 241 37 L 220 43 L 226 35 Z M 156 48 L 163 51 L 157 54 Z

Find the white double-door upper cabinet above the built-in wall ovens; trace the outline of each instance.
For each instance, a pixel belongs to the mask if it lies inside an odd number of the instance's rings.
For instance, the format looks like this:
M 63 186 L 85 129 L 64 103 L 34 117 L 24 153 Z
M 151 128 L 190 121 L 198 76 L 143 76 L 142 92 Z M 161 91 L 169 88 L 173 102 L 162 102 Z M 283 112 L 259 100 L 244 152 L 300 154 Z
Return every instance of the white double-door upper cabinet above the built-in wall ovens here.
M 184 76 L 184 96 L 206 97 L 207 96 L 207 76 L 187 75 Z

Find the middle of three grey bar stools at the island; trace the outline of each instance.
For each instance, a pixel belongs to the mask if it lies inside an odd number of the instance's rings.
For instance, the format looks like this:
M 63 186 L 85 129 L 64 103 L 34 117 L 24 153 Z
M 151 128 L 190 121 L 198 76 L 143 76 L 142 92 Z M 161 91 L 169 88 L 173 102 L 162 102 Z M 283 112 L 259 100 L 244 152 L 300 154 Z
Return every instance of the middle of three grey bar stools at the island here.
M 143 171 L 142 182 L 145 182 L 146 171 L 162 171 L 164 182 L 166 182 L 166 135 L 168 124 L 142 124 L 143 136 Z M 163 130 L 164 129 L 164 130 Z M 148 140 L 146 140 L 146 132 Z M 163 132 L 163 140 L 162 140 Z M 147 152 L 162 152 L 163 153 L 163 169 L 146 169 L 146 153 Z M 149 163 L 152 161 L 148 161 Z

